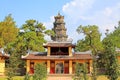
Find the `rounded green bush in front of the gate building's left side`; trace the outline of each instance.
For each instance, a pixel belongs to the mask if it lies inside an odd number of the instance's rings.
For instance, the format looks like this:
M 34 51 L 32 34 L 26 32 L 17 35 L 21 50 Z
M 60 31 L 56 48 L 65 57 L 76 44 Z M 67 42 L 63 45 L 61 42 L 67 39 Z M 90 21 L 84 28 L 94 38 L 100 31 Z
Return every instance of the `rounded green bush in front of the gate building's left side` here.
M 33 75 L 34 80 L 43 80 L 47 77 L 47 68 L 43 63 L 35 65 L 35 72 Z

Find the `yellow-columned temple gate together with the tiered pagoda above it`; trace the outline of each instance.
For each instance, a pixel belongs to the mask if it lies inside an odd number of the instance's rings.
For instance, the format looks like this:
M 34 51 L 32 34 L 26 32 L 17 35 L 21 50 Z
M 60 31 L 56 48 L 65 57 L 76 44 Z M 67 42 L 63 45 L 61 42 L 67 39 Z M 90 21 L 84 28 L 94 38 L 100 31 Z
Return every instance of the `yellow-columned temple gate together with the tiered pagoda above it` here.
M 53 31 L 55 36 L 51 36 L 52 41 L 43 44 L 46 52 L 31 52 L 22 56 L 26 60 L 26 71 L 34 73 L 36 63 L 45 63 L 48 74 L 74 74 L 76 63 L 86 63 L 89 73 L 92 70 L 92 55 L 90 51 L 74 52 L 75 45 L 66 35 L 64 16 L 59 13 L 54 17 Z

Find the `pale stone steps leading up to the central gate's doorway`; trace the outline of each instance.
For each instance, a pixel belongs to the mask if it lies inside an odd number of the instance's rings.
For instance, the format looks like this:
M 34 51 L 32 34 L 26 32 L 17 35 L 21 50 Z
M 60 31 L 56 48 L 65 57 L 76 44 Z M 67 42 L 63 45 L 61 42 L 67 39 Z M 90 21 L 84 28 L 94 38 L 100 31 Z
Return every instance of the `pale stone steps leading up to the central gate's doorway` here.
M 72 80 L 71 74 L 49 74 L 47 80 Z

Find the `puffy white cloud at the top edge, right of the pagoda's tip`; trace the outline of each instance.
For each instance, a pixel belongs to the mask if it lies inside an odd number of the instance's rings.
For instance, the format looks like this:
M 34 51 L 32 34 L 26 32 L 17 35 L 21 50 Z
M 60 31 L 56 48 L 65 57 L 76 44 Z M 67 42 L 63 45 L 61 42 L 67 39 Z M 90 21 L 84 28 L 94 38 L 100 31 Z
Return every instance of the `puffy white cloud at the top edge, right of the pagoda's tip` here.
M 66 3 L 62 10 L 67 15 L 82 15 L 92 7 L 94 0 L 72 0 Z

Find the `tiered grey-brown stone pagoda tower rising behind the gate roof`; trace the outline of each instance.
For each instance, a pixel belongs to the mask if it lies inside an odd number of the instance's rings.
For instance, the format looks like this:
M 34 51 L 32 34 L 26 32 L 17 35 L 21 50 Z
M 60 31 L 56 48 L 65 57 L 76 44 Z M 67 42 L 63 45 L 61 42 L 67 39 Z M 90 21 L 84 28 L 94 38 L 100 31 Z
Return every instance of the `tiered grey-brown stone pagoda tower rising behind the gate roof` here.
M 55 22 L 52 30 L 55 32 L 55 36 L 51 37 L 51 39 L 53 41 L 66 41 L 68 35 L 66 35 L 67 29 L 65 28 L 64 16 L 61 16 L 60 13 L 58 13 L 54 18 Z

